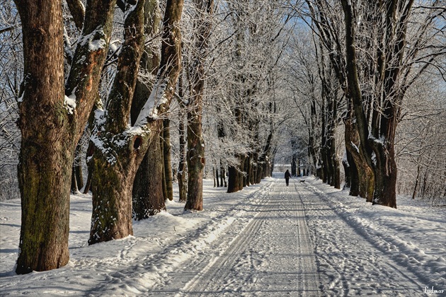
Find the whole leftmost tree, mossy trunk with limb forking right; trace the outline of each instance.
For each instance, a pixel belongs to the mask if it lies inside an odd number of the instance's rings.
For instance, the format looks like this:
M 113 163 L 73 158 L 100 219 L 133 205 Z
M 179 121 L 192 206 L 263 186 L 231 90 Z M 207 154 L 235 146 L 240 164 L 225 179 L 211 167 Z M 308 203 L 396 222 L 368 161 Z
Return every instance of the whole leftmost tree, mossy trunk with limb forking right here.
M 61 1 L 15 1 L 21 16 L 23 93 L 18 180 L 22 226 L 16 272 L 69 260 L 69 190 L 74 149 L 98 93 L 115 1 L 87 1 L 82 37 L 64 88 Z

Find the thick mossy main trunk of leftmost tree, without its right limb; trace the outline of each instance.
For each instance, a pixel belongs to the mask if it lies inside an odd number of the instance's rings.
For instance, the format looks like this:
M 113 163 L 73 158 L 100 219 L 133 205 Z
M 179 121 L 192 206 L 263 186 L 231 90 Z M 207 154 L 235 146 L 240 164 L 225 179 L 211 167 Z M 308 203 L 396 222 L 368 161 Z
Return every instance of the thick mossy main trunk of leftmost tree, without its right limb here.
M 73 116 L 64 106 L 61 1 L 19 1 L 24 80 L 18 103 L 21 151 L 21 234 L 16 273 L 45 271 L 69 261 L 69 190 Z M 36 104 L 38 103 L 38 104 Z

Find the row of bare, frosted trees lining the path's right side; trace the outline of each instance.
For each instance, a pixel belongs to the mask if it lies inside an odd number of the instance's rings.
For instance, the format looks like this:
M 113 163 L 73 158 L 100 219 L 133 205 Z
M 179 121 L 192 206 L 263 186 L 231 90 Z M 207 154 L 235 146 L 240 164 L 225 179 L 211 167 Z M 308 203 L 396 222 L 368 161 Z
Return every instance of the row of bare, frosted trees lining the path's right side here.
M 308 128 L 311 163 L 325 182 L 340 187 L 336 139 L 343 140 L 345 185 L 350 194 L 396 207 L 397 158 L 407 154 L 415 161 L 416 155 L 420 174 L 427 165 L 421 160 L 432 158 L 430 153 L 421 156 L 421 151 L 408 153 L 409 146 L 400 147 L 404 144 L 398 142 L 396 132 L 401 120 L 408 120 L 404 105 L 420 99 L 411 93 L 420 82 L 431 83 L 440 91 L 435 95 L 444 98 L 444 7 L 440 1 L 411 0 L 305 3 L 304 8 L 294 7 L 312 34 L 295 47 L 297 59 L 291 68 L 296 78 L 293 95 Z M 309 49 L 314 55 L 307 54 Z M 444 116 L 444 102 L 439 100 L 440 106 L 433 103 L 438 100 L 430 100 L 429 109 L 421 114 Z M 337 138 L 336 129 L 342 127 L 344 135 Z M 404 123 L 404 129 L 410 128 Z M 427 137 L 437 137 L 435 146 L 444 143 L 437 132 Z M 427 153 L 428 146 L 422 147 Z M 435 182 L 445 176 L 444 161 L 438 162 Z M 433 166 L 430 163 L 428 168 Z M 430 173 L 435 171 L 428 168 Z M 442 190 L 436 194 L 444 197 Z

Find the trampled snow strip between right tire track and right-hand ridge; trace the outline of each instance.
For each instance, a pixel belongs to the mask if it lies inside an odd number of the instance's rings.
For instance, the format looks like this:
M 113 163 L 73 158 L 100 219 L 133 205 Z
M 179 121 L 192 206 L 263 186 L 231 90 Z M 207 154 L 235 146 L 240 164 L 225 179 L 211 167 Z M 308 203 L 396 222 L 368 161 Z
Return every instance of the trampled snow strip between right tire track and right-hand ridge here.
M 313 185 L 299 185 L 312 223 L 321 274 L 327 296 L 421 296 L 417 277 L 374 246 L 355 222 L 333 206 Z M 333 226 L 334 225 L 334 226 Z M 399 284 L 411 284 L 401 287 Z

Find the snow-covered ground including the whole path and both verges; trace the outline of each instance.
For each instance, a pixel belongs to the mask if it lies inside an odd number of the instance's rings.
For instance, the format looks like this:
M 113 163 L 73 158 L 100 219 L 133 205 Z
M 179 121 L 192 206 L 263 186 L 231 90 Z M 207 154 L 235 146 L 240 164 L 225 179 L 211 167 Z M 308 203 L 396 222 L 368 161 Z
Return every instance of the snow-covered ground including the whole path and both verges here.
M 13 272 L 20 201 L 0 202 L 0 296 L 446 296 L 444 207 L 277 177 L 232 194 L 205 180 L 204 211 L 168 202 L 134 236 L 91 246 L 91 197 L 72 196 L 69 264 L 26 275 Z

